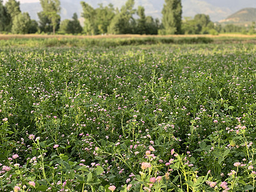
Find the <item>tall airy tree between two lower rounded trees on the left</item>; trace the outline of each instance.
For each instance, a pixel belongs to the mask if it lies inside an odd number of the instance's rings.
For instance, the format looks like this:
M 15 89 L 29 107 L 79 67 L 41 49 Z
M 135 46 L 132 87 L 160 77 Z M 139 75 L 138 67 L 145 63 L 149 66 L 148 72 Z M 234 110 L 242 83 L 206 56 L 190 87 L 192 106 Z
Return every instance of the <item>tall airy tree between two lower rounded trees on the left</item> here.
M 43 29 L 43 27 L 50 25 L 52 33 L 55 34 L 56 28 L 60 24 L 60 0 L 40 0 L 40 4 L 43 9 L 42 12 L 38 13 L 40 28 Z

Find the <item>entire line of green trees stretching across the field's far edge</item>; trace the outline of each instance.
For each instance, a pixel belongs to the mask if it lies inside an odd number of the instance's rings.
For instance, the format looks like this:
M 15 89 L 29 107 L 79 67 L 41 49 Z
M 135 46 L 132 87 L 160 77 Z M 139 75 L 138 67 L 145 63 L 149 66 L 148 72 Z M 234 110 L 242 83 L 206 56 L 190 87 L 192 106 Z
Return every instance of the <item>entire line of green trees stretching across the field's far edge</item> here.
M 134 0 L 127 0 L 120 8 L 113 4 L 93 8 L 90 4 L 81 1 L 84 19 L 83 28 L 78 20 L 77 13 L 72 19 L 61 21 L 60 0 L 40 0 L 42 12 L 38 12 L 38 22 L 29 17 L 28 13 L 20 11 L 20 3 L 8 0 L 3 4 L 0 0 L 0 32 L 6 33 L 53 33 L 62 34 L 207 34 L 243 32 L 246 28 L 234 25 L 215 25 L 209 15 L 197 14 L 193 19 L 182 20 L 181 0 L 165 0 L 161 21 L 145 15 L 145 8 L 134 8 Z M 253 29 L 254 31 L 254 29 Z

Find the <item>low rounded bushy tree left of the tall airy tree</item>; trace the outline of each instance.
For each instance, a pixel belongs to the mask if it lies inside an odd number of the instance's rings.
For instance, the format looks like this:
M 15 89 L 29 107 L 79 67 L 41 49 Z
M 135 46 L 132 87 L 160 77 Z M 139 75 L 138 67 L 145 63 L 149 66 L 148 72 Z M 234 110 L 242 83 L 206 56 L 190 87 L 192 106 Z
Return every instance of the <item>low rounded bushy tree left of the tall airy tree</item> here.
M 15 15 L 12 25 L 12 33 L 26 34 L 29 32 L 31 20 L 28 13 Z

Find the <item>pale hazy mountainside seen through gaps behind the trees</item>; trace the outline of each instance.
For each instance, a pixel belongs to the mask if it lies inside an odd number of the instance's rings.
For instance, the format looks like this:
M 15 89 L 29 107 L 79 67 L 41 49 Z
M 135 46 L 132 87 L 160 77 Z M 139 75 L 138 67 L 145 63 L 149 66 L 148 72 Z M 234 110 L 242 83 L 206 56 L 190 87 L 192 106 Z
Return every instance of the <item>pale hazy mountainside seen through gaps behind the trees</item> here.
M 6 1 L 6 0 L 4 0 Z M 38 20 L 37 12 L 41 6 L 37 3 L 26 3 L 36 0 L 20 0 L 22 12 L 29 12 L 31 18 Z M 61 1 L 61 20 L 70 19 L 73 13 L 81 14 L 81 0 L 60 0 Z M 97 8 L 99 3 L 107 5 L 112 3 L 115 7 L 121 8 L 126 0 L 84 0 L 86 3 Z M 164 0 L 135 0 L 135 8 L 138 5 L 145 7 L 146 15 L 161 19 Z M 194 17 L 197 13 L 209 15 L 212 21 L 223 20 L 241 8 L 255 7 L 255 0 L 182 0 L 182 16 Z

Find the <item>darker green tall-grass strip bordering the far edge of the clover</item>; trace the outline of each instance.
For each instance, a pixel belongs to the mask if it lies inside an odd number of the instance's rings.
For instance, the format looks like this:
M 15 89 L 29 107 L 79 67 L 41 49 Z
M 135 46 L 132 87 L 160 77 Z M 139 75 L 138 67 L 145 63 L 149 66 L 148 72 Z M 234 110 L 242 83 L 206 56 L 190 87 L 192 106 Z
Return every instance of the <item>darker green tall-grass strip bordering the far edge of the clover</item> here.
M 24 38 L 0 41 L 1 46 L 19 47 L 118 47 L 122 45 L 161 45 L 161 44 L 209 44 L 211 38 L 205 37 L 144 37 L 144 38 Z

